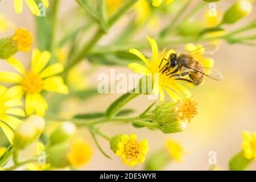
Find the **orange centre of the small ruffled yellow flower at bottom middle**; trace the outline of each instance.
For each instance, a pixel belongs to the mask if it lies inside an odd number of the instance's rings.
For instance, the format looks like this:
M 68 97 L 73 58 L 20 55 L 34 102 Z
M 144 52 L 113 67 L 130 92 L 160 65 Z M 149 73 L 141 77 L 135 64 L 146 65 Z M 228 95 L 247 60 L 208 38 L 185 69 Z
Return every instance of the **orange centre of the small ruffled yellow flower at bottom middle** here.
M 137 159 L 141 154 L 141 145 L 137 140 L 129 140 L 124 145 L 124 151 L 127 158 Z

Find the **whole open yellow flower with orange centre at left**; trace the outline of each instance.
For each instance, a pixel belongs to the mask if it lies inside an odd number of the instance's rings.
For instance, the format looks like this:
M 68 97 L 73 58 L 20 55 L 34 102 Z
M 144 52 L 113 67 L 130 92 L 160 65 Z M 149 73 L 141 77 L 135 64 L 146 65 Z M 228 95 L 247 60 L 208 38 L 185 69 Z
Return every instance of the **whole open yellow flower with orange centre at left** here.
M 23 65 L 17 59 L 10 57 L 7 59 L 7 62 L 10 63 L 19 74 L 0 72 L 0 81 L 18 84 L 10 88 L 10 90 L 16 97 L 22 97 L 24 95 L 27 115 L 36 113 L 37 115 L 44 116 L 48 105 L 40 94 L 43 90 L 68 94 L 68 87 L 64 84 L 63 78 L 54 76 L 63 71 L 63 65 L 56 63 L 46 67 L 50 59 L 50 52 L 40 52 L 38 49 L 34 49 L 32 52 L 30 71 L 26 72 Z

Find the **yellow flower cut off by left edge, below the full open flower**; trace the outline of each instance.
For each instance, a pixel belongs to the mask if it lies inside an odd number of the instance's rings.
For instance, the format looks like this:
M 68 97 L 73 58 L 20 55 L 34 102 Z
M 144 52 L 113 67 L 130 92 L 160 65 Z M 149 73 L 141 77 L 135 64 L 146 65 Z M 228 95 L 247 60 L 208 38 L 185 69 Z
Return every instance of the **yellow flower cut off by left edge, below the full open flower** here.
M 0 127 L 11 144 L 13 144 L 13 130 L 16 130 L 19 124 L 22 123 L 20 119 L 15 118 L 13 115 L 25 116 L 22 109 L 15 108 L 16 106 L 22 106 L 22 102 L 12 96 L 13 91 L 11 89 L 0 86 Z

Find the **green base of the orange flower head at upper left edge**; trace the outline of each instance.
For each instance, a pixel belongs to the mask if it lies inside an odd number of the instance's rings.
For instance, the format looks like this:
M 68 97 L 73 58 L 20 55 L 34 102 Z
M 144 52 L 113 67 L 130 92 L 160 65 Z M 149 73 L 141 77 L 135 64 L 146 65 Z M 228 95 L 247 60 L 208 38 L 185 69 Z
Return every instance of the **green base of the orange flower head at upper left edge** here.
M 0 59 L 7 59 L 16 52 L 18 52 L 18 49 L 15 47 L 13 38 L 0 39 Z

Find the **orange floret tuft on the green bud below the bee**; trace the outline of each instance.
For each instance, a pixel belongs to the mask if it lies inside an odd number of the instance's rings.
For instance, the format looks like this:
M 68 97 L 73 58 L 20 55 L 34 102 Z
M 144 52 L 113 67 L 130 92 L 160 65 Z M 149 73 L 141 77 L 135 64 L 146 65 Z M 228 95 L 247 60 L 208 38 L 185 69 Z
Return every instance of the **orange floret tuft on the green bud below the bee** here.
M 180 100 L 176 107 L 178 117 L 190 122 L 191 119 L 198 114 L 196 105 L 196 102 L 192 101 L 191 98 Z

